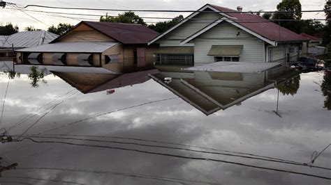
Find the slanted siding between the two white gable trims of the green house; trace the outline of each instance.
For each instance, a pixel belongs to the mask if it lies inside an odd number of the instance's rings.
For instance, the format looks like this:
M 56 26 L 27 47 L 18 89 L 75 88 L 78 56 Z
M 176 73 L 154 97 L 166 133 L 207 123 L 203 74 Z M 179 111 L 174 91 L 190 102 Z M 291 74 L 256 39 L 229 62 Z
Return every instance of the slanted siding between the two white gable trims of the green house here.
M 160 47 L 178 47 L 181 46 L 180 42 L 185 40 L 189 36 L 193 35 L 194 33 L 200 31 L 205 26 L 211 24 L 216 19 L 221 18 L 222 16 L 219 13 L 200 13 L 190 19 L 189 21 L 185 22 L 181 26 L 177 27 L 164 38 L 157 41 L 156 43 L 160 44 Z M 193 44 L 185 44 L 183 46 L 193 46 Z

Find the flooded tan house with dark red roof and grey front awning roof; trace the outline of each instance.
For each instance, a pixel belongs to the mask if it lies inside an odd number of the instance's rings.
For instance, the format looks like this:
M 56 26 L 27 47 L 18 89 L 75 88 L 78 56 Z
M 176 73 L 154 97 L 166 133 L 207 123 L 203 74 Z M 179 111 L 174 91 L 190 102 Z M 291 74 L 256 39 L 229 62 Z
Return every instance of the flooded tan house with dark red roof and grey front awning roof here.
M 103 67 L 115 73 L 152 66 L 159 33 L 140 24 L 80 22 L 48 45 L 17 50 L 17 63 Z

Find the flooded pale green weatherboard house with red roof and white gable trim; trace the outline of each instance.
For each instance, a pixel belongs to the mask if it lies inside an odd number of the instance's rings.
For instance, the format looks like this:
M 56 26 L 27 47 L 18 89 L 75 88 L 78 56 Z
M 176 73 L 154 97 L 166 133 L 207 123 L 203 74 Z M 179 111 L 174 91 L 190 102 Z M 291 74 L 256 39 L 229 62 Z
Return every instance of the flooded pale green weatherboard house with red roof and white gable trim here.
M 251 13 L 207 4 L 149 44 L 161 65 L 295 61 L 307 38 Z

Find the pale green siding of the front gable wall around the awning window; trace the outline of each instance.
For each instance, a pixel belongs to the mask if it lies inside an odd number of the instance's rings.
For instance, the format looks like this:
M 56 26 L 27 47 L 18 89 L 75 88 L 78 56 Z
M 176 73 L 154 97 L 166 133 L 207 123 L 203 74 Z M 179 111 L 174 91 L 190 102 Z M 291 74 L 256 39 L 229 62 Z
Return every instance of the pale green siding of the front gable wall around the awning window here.
M 195 65 L 214 63 L 214 56 L 207 55 L 212 45 L 243 45 L 240 62 L 265 62 L 263 40 L 227 22 L 214 26 L 196 38 L 194 43 Z

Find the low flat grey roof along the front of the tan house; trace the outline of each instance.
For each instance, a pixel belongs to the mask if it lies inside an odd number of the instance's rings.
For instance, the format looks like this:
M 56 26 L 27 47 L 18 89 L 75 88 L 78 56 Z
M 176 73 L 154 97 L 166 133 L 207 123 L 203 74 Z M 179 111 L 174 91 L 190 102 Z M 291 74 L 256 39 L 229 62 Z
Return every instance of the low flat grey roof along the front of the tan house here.
M 18 49 L 22 52 L 63 52 L 63 53 L 102 53 L 103 51 L 117 45 L 118 42 L 56 42 L 53 44 L 41 45 Z

